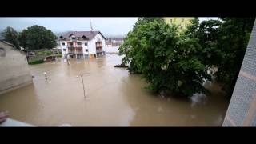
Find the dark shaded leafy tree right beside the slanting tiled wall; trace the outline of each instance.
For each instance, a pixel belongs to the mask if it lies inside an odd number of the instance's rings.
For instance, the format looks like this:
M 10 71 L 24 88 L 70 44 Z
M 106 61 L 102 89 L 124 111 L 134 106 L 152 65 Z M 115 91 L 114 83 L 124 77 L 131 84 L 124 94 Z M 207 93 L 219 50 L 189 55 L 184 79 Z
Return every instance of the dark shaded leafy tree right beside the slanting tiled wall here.
M 219 18 L 192 22 L 186 34 L 198 38 L 202 62 L 208 70 L 218 68 L 215 80 L 230 97 L 242 65 L 254 18 Z

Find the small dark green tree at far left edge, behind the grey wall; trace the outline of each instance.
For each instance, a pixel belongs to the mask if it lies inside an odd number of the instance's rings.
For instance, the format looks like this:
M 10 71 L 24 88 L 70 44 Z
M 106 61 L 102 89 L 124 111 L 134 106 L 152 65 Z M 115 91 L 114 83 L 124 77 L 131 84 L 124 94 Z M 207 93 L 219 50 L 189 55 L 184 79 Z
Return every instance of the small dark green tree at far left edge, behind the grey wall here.
M 19 48 L 18 44 L 18 32 L 14 30 L 14 28 L 8 26 L 5 30 L 2 31 L 2 37 L 6 42 L 10 42 L 13 44 L 17 49 Z

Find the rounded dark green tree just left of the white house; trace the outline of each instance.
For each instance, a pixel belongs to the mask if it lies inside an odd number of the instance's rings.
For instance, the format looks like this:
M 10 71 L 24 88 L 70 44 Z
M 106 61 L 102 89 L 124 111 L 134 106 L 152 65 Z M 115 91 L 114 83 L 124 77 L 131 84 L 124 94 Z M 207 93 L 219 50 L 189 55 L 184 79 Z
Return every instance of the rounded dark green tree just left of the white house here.
M 18 40 L 26 50 L 50 49 L 57 46 L 57 37 L 51 30 L 44 26 L 31 26 L 22 30 Z

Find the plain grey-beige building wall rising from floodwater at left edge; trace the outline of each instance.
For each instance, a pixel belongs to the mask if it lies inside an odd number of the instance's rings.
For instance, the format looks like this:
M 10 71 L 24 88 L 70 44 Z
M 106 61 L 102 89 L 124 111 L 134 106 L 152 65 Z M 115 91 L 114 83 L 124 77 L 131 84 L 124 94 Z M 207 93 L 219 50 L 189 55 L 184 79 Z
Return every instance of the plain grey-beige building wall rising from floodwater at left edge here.
M 26 54 L 0 42 L 0 94 L 32 82 Z

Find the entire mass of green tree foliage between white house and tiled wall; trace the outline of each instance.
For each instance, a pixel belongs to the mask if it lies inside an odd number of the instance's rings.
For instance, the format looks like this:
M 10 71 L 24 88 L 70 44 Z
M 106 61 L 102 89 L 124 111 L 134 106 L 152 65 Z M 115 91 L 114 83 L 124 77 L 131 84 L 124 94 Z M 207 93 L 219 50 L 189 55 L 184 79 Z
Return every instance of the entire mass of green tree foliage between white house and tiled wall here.
M 214 80 L 231 96 L 242 65 L 254 18 L 219 18 L 199 23 L 194 18 L 185 31 L 161 18 L 138 18 L 119 54 L 128 70 L 142 74 L 154 92 L 170 90 L 207 94 L 202 86 Z M 206 71 L 217 68 L 213 75 Z

